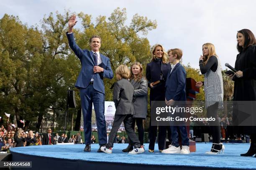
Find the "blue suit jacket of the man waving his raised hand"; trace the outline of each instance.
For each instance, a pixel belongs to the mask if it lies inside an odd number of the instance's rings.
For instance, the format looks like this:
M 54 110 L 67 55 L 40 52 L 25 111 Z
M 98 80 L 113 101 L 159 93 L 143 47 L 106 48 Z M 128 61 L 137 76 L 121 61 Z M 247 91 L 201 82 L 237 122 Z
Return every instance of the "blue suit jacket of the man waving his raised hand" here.
M 90 50 L 82 50 L 78 45 L 76 44 L 74 40 L 74 34 L 68 34 L 67 38 L 69 40 L 69 46 L 74 51 L 75 55 L 79 58 L 82 68 L 81 71 L 77 77 L 77 82 L 75 84 L 75 87 L 78 88 L 86 88 L 90 84 L 90 81 L 92 79 L 92 76 L 94 74 L 93 67 L 94 67 L 94 58 L 93 58 L 93 52 Z M 105 94 L 105 87 L 103 83 L 103 77 L 112 79 L 113 78 L 113 71 L 110 66 L 110 60 L 105 55 L 100 54 L 102 63 L 98 66 L 102 67 L 104 69 L 103 72 L 96 73 L 93 77 L 94 83 L 93 87 L 95 90 L 102 92 Z

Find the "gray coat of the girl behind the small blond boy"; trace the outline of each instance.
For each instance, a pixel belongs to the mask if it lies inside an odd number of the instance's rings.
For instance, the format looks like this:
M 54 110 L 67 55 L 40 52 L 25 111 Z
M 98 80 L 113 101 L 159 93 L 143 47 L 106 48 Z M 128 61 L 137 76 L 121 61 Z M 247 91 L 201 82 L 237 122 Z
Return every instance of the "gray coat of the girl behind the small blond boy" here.
M 148 110 L 148 82 L 144 77 L 141 81 L 131 80 L 134 88 L 133 106 L 135 115 L 133 117 L 146 119 Z

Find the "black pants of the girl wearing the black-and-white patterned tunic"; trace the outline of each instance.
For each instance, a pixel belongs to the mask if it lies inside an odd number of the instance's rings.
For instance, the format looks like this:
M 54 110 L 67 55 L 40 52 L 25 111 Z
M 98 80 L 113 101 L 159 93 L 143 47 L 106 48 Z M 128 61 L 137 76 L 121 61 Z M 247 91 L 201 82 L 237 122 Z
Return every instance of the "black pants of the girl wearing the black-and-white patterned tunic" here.
M 219 102 L 207 107 L 207 117 L 214 117 L 215 121 L 209 122 L 210 132 L 212 134 L 212 143 L 220 143 L 220 122 L 218 119 L 218 106 Z

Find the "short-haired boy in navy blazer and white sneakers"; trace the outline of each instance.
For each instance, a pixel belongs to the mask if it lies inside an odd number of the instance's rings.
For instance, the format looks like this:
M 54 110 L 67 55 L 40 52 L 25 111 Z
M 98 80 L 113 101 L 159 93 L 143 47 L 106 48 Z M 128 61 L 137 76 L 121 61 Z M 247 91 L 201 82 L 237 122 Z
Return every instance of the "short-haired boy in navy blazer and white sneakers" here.
M 175 101 L 186 101 L 186 76 L 187 72 L 179 63 L 182 58 L 182 50 L 174 48 L 168 50 L 169 62 L 172 70 L 166 80 L 165 102 L 166 105 L 174 105 Z M 172 145 L 162 151 L 162 153 L 181 153 L 189 154 L 189 138 L 187 137 L 186 126 L 170 126 L 172 132 Z M 179 147 L 179 133 L 182 140 L 182 149 Z

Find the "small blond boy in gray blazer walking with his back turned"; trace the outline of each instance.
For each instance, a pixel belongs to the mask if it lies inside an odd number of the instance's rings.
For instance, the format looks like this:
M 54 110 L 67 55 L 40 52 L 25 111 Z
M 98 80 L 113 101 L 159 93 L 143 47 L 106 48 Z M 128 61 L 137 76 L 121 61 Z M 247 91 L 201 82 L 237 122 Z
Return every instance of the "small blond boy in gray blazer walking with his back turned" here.
M 123 122 L 125 125 L 125 132 L 131 140 L 134 149 L 129 152 L 130 154 L 137 154 L 145 152 L 143 145 L 140 144 L 138 137 L 136 136 L 132 128 L 132 119 L 134 115 L 133 107 L 133 86 L 127 80 L 130 77 L 130 70 L 127 65 L 120 65 L 116 70 L 116 77 L 118 79 L 115 82 L 113 100 L 115 102 L 115 119 L 113 122 L 112 129 L 108 138 L 108 143 L 106 146 L 100 147 L 105 153 L 112 153 L 113 143 L 115 136 L 118 132 L 118 128 Z

